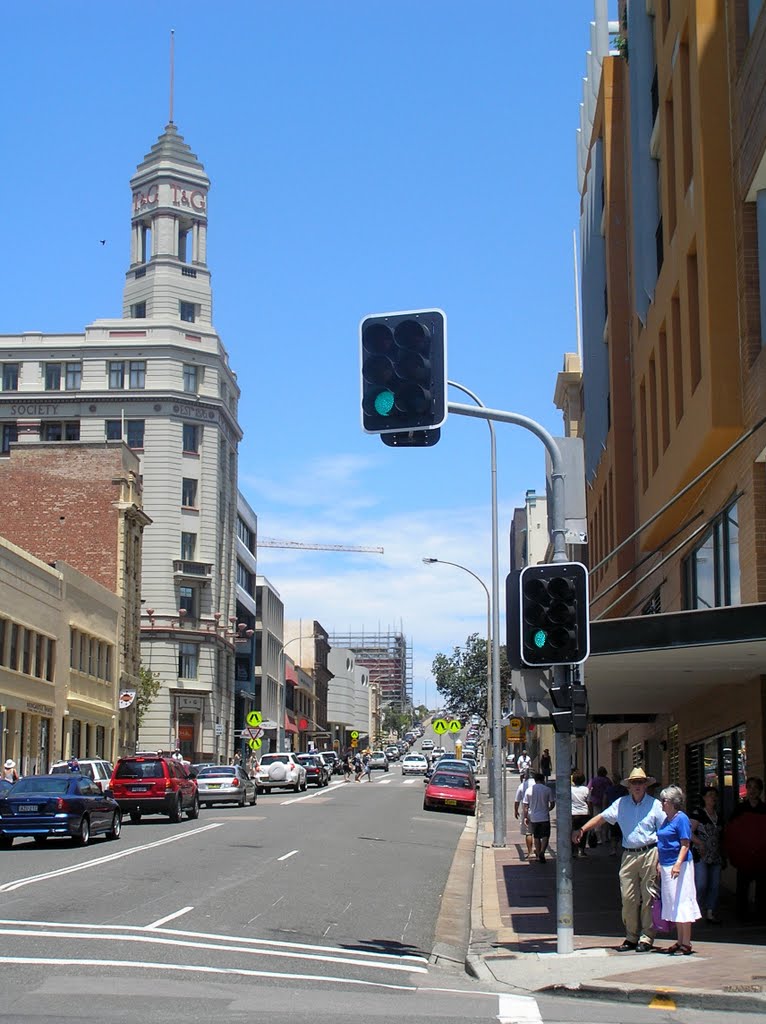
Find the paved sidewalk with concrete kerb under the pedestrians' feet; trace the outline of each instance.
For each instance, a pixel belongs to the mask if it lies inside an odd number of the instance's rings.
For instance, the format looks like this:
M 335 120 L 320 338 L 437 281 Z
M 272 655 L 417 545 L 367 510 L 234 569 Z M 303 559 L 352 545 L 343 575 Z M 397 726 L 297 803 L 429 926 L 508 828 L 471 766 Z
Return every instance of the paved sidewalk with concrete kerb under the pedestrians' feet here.
M 725 900 L 723 925 L 693 927 L 691 956 L 614 951 L 625 937 L 620 857 L 605 847 L 572 863 L 574 951 L 557 954 L 555 822 L 547 862 L 527 861 L 513 816 L 517 777 L 509 775 L 509 783 L 506 847 L 493 847 L 492 802 L 480 800 L 466 956 L 471 974 L 523 992 L 565 990 L 668 1009 L 766 1015 L 766 928 L 735 925 Z M 658 936 L 656 949 L 674 941 L 675 935 Z

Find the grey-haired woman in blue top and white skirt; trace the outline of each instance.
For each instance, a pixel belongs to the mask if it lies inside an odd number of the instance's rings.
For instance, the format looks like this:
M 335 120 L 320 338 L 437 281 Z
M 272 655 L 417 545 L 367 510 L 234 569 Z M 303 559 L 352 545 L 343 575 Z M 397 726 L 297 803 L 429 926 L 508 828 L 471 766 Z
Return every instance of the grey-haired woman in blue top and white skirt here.
M 662 882 L 663 918 L 676 925 L 678 941 L 668 953 L 688 956 L 691 926 L 701 914 L 694 887 L 694 861 L 691 856 L 691 822 L 682 811 L 683 791 L 669 785 L 659 794 L 666 819 L 657 829 L 657 870 Z

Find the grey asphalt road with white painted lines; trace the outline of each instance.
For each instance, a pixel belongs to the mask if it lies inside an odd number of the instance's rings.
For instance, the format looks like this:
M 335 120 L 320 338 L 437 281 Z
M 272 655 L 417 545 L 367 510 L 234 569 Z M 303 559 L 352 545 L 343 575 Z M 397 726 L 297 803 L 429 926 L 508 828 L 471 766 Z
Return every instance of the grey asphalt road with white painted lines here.
M 668 1016 L 498 993 L 431 965 L 465 819 L 423 812 L 422 792 L 394 765 L 372 784 L 264 794 L 180 825 L 128 821 L 118 843 L 17 840 L 0 853 L 0 1022 Z

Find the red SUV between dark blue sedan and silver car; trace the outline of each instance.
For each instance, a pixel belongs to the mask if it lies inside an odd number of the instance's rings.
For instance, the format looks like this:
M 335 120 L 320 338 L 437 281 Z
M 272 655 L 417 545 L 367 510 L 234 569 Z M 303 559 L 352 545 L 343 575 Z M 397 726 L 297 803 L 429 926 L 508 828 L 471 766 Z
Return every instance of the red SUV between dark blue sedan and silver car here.
M 178 761 L 153 754 L 133 754 L 120 758 L 112 773 L 112 793 L 131 821 L 142 814 L 167 814 L 180 821 L 200 814 L 197 779 L 192 778 Z

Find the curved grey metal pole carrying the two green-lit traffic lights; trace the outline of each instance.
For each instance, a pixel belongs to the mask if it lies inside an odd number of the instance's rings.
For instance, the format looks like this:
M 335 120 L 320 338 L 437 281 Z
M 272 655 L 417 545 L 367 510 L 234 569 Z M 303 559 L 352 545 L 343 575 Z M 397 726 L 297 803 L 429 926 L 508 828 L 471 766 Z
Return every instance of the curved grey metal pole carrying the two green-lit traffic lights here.
M 551 508 L 549 522 L 553 541 L 554 562 L 566 561 L 566 541 L 564 534 L 564 471 L 563 459 L 555 438 L 545 427 L 535 420 L 518 413 L 506 413 L 498 409 L 462 406 L 450 402 L 448 412 L 459 416 L 472 416 L 478 420 L 495 420 L 498 423 L 512 423 L 531 431 L 545 444 L 551 457 Z M 568 669 L 557 665 L 553 669 L 554 680 L 560 684 L 566 679 Z M 495 709 L 493 719 L 499 715 Z M 494 723 L 493 723 L 494 724 Z M 499 724 L 499 719 L 498 719 Z M 564 733 L 556 733 L 556 951 L 570 953 L 574 948 L 574 901 L 571 880 L 571 744 Z M 497 803 L 499 794 L 495 794 Z

